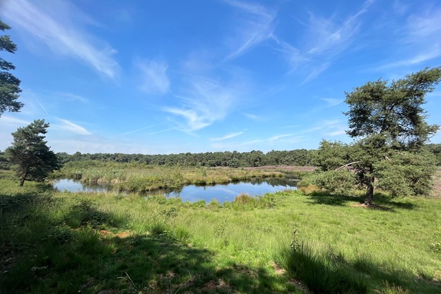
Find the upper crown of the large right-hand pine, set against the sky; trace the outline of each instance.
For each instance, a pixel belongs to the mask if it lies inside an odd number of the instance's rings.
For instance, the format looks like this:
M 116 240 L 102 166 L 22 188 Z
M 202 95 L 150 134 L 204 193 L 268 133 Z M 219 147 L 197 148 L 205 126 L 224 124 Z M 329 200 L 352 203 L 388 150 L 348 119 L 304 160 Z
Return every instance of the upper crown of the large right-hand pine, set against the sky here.
M 346 93 L 349 136 L 384 134 L 396 149 L 420 148 L 439 129 L 428 125 L 422 108 L 427 93 L 440 82 L 441 67 L 426 68 L 392 81 L 379 79 Z

